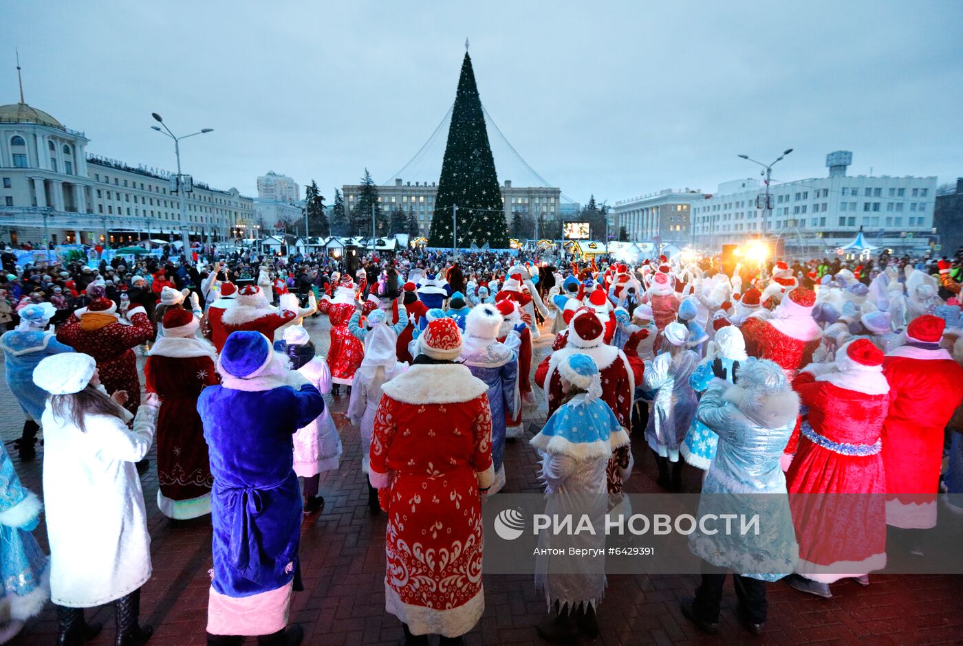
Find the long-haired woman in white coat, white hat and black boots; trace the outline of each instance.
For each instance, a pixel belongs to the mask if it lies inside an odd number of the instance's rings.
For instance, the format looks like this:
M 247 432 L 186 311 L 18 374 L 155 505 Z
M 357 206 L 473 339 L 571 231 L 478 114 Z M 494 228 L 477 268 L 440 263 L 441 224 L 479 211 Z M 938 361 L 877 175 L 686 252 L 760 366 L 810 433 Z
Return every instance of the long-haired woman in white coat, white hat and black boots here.
M 84 608 L 113 602 L 115 643 L 140 646 L 153 633 L 138 622 L 141 586 L 152 568 L 135 465 L 153 444 L 160 401 L 148 394 L 134 417 L 118 393 L 107 395 L 96 362 L 82 352 L 43 359 L 34 382 L 50 394 L 43 411 L 43 503 L 58 643 L 91 639 L 100 627 L 85 622 Z

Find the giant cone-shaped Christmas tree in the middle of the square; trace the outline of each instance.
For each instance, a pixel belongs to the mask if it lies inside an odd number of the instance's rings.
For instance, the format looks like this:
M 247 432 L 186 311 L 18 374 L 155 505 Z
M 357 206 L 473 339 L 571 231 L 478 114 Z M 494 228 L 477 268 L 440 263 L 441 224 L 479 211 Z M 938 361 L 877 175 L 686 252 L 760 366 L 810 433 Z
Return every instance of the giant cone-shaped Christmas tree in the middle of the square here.
M 472 59 L 465 52 L 455 95 L 452 124 L 448 129 L 445 160 L 441 165 L 438 196 L 434 202 L 429 244 L 452 246 L 452 214 L 457 205 L 457 245 L 508 246 L 508 226 L 495 161 L 488 145 L 481 99 L 475 85 Z

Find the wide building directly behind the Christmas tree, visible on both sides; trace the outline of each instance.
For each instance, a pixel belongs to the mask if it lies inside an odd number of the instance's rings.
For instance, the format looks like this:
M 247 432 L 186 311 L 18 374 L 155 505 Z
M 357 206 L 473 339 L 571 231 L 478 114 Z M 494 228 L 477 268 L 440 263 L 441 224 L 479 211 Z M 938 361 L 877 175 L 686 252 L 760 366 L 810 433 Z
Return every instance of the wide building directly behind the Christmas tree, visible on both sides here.
M 513 187 L 511 180 L 505 180 L 501 186 L 502 204 L 505 207 L 505 219 L 508 223 L 514 213 L 531 215 L 541 214 L 543 220 L 558 220 L 560 217 L 561 190 L 546 187 Z M 351 213 L 354 205 L 360 199 L 361 186 L 346 184 L 342 187 L 345 199 L 345 211 Z M 381 210 L 393 212 L 401 207 L 404 213 L 415 214 L 421 235 L 427 236 L 434 216 L 434 199 L 438 194 L 436 182 L 404 182 L 395 179 L 394 185 L 377 187 L 377 201 Z M 365 232 L 361 232 L 363 235 Z

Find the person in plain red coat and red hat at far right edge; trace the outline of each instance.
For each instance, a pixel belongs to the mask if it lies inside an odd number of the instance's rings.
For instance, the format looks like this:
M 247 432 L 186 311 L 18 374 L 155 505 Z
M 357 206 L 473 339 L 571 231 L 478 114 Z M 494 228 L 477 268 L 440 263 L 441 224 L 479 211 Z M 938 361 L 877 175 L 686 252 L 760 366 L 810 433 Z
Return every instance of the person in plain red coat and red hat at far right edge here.
M 886 522 L 903 530 L 936 525 L 943 431 L 963 399 L 963 368 L 940 349 L 944 321 L 924 315 L 906 328 L 906 345 L 886 355 L 893 405 L 883 428 Z

